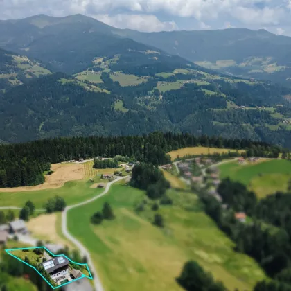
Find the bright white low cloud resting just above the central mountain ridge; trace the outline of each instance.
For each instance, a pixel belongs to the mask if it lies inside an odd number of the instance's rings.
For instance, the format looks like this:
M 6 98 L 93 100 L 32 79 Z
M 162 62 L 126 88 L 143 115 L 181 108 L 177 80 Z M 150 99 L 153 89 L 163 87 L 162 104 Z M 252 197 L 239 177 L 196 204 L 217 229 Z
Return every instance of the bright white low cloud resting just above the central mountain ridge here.
M 155 15 L 118 14 L 114 16 L 95 15 L 94 17 L 105 24 L 118 28 L 130 28 L 145 32 L 178 30 L 175 21 L 161 22 Z

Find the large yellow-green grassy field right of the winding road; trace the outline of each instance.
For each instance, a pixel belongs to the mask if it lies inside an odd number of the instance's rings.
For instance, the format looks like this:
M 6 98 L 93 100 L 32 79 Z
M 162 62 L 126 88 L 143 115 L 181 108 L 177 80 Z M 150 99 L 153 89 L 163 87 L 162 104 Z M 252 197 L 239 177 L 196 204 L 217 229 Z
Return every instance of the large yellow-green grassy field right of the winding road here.
M 89 249 L 106 290 L 182 291 L 175 278 L 191 258 L 229 290 L 251 290 L 264 278 L 251 258 L 233 252 L 233 243 L 204 213 L 195 195 L 173 190 L 168 195 L 175 205 L 159 210 L 164 230 L 148 220 L 153 211 L 134 212 L 145 195 L 126 185 L 115 184 L 100 200 L 69 211 L 69 231 Z M 111 204 L 116 218 L 93 226 L 90 217 L 104 202 Z

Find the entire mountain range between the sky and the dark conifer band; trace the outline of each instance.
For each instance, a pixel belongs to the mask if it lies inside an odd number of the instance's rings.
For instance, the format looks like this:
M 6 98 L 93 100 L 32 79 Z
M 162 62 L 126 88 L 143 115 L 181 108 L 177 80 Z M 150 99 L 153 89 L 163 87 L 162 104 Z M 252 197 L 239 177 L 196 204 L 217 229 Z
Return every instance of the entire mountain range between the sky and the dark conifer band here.
M 162 130 L 291 146 L 290 39 L 139 33 L 83 15 L 0 21 L 0 140 Z

